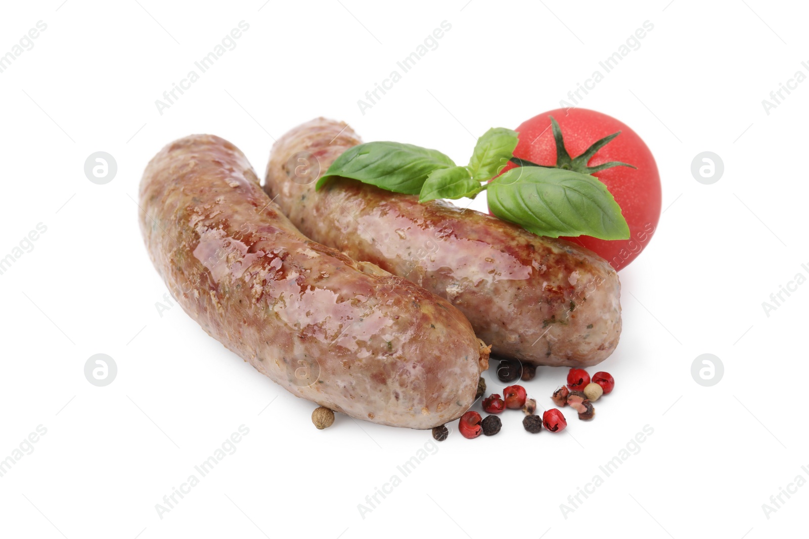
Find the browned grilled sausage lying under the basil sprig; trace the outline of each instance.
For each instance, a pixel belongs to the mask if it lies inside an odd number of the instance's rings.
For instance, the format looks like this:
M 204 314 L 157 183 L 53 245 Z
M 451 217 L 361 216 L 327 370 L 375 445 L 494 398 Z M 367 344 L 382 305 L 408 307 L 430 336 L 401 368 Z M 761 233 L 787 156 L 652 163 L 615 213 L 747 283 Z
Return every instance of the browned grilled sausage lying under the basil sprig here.
M 319 118 L 273 145 L 265 191 L 309 238 L 446 297 L 492 353 L 581 367 L 615 350 L 621 285 L 595 253 L 443 201 L 418 203 L 350 179 L 316 179 L 360 143 Z

